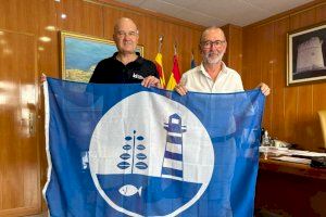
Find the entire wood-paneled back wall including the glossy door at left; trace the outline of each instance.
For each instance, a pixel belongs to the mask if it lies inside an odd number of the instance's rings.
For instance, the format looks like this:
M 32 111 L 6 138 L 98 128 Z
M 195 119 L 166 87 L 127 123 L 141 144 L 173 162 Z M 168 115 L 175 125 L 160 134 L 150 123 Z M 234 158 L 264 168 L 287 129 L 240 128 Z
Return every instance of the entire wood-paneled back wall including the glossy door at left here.
M 13 86 L 17 90 L 15 99 L 20 99 L 20 91 L 24 91 L 22 87 L 28 81 L 27 85 L 32 84 L 36 89 L 33 92 L 36 101 L 28 106 L 37 110 L 38 117 L 37 135 L 32 143 L 24 143 L 24 138 L 12 138 L 15 129 L 20 130 L 21 123 L 25 122 L 12 108 L 15 103 L 15 107 L 21 106 L 18 100 L 12 100 L 5 107 L 1 104 L 0 216 L 41 212 L 40 190 L 47 179 L 47 161 L 39 77 L 41 73 L 61 77 L 60 30 L 112 39 L 115 21 L 127 16 L 139 27 L 139 43 L 145 46 L 145 58 L 155 58 L 159 36 L 164 35 L 162 54 L 166 79 L 172 71 L 175 42 L 180 72 L 190 68 L 192 50 L 197 63 L 200 61 L 198 42 L 202 26 L 111 0 L 0 0 L 0 60 L 5 63 L 0 66 L 0 103 L 7 94 L 3 84 Z M 62 18 L 62 14 L 66 18 Z M 41 37 L 50 40 L 40 40 Z M 12 48 L 10 53 L 7 47 Z M 11 110 L 9 113 L 5 113 L 7 107 Z M 4 117 L 12 118 L 12 123 Z

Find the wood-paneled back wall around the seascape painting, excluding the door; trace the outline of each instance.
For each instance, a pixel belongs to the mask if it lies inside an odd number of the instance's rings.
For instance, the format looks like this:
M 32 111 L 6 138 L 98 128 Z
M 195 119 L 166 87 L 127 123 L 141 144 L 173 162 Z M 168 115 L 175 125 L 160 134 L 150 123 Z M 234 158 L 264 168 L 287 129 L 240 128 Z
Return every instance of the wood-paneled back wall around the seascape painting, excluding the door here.
M 158 53 L 159 36 L 164 36 L 162 54 L 166 77 L 172 71 L 175 42 L 178 47 L 180 72 L 190 68 L 191 50 L 195 52 L 197 63 L 200 60 L 198 42 L 202 26 L 112 0 L 42 1 L 39 5 L 43 12 L 38 14 L 41 17 L 39 31 L 51 38 L 51 42 L 43 43 L 43 50 L 39 52 L 39 71 L 50 76 L 60 77 L 58 31 L 67 30 L 112 40 L 113 25 L 123 16 L 133 18 L 137 24 L 140 33 L 139 43 L 145 46 L 145 58 L 149 60 L 154 60 Z M 65 14 L 66 18 L 63 20 L 62 14 Z M 45 27 L 49 25 L 54 26 L 55 30 L 45 30 Z

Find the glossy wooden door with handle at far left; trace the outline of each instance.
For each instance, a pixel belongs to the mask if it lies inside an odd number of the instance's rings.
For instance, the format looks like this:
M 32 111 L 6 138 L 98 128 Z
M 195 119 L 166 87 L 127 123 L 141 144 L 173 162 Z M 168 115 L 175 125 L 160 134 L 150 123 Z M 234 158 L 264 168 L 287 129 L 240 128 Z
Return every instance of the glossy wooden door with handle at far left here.
M 40 212 L 36 38 L 1 31 L 0 216 L 33 214 Z

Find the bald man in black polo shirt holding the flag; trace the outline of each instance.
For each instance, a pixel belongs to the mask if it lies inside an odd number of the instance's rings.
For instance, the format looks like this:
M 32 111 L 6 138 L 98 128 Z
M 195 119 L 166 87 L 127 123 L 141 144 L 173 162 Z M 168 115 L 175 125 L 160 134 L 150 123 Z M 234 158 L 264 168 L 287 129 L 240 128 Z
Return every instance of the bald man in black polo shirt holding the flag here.
M 100 61 L 89 80 L 97 84 L 134 84 L 160 88 L 159 73 L 155 64 L 136 52 L 139 33 L 136 24 L 126 17 L 114 25 L 113 39 L 117 52 Z

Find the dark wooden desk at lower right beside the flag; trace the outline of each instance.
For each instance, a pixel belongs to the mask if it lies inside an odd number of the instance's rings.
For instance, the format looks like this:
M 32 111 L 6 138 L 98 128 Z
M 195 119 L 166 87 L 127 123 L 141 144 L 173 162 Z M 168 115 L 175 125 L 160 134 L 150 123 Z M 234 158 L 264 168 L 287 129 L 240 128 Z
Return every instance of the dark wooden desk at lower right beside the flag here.
M 326 216 L 326 169 L 260 159 L 255 209 L 279 216 Z

